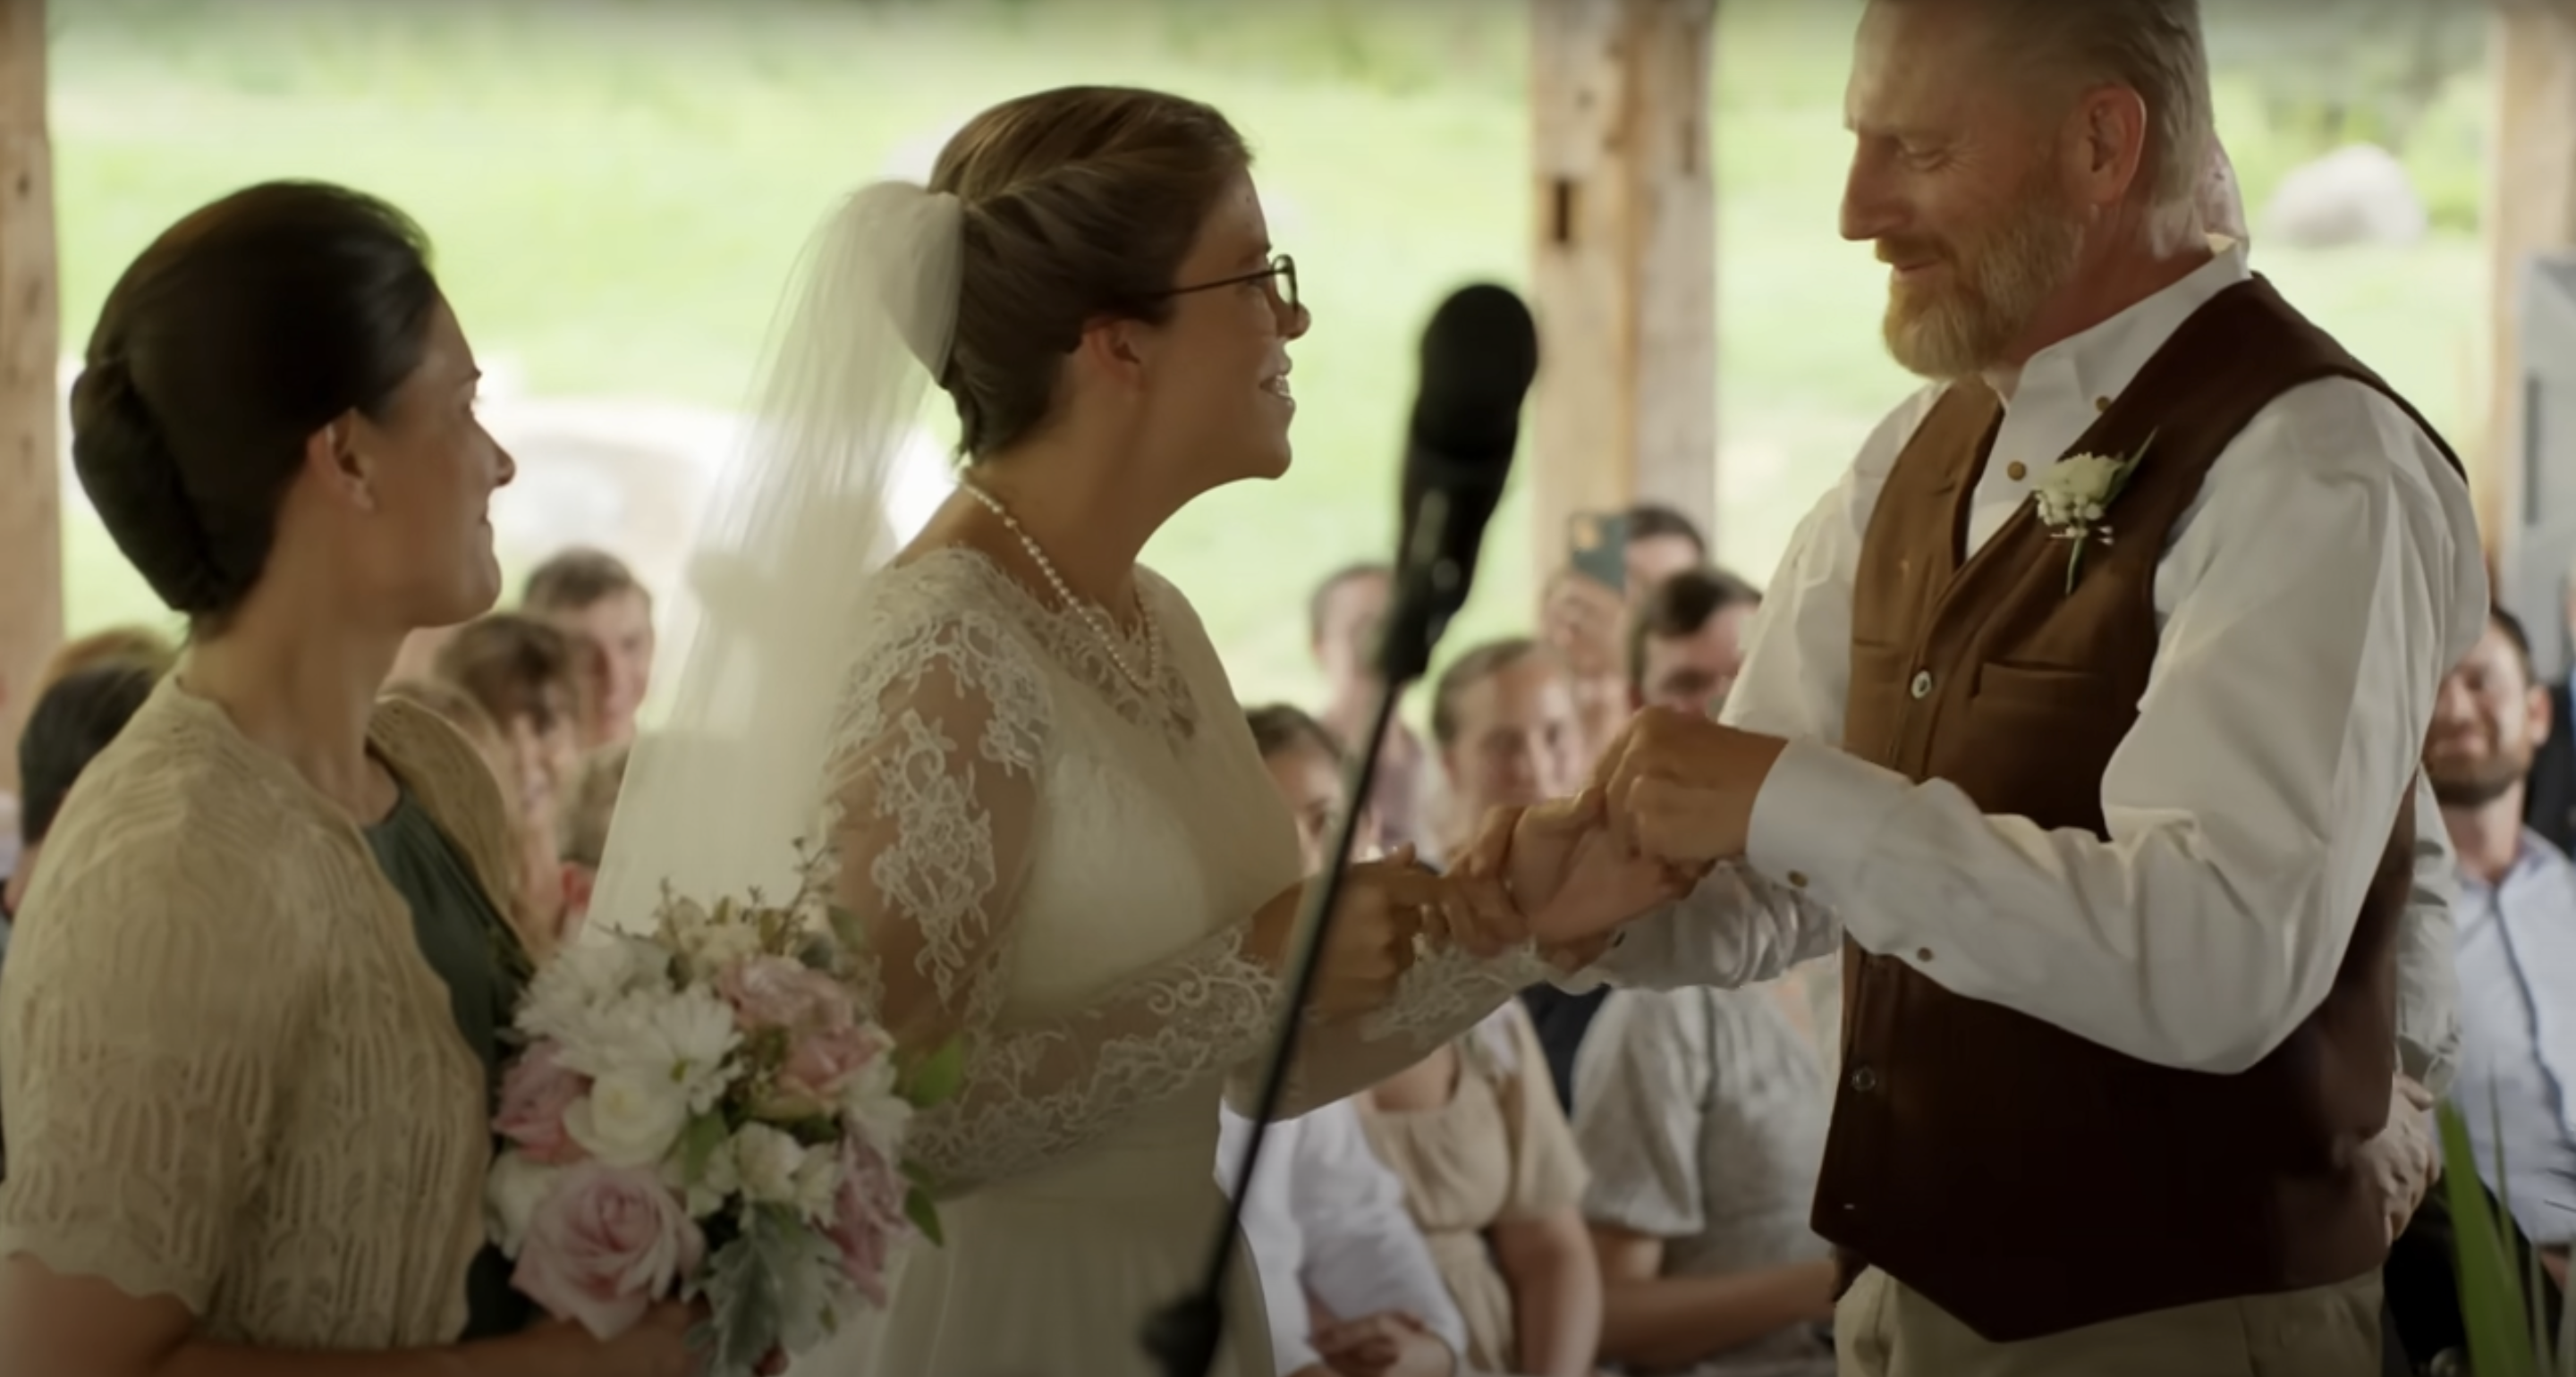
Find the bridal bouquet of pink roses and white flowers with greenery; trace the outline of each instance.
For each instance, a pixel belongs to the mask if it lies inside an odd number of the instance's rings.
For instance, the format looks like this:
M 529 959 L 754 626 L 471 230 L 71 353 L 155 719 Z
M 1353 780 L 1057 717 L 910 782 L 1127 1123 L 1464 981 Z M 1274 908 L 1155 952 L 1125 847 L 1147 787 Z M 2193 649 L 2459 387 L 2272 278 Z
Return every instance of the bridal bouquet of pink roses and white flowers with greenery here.
M 716 1377 L 747 1377 L 886 1305 L 930 1197 L 902 1166 L 948 1053 L 896 1073 L 850 996 L 848 914 L 801 857 L 788 903 L 665 888 L 649 937 L 592 932 L 518 1009 L 484 1202 L 513 1284 L 608 1338 L 706 1300 Z

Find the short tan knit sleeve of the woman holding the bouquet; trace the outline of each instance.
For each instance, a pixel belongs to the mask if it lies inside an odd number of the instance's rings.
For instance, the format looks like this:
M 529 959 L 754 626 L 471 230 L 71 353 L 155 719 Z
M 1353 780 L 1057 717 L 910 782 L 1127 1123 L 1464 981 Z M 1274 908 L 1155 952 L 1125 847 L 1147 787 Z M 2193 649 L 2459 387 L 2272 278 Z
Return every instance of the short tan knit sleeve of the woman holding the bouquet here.
M 258 901 L 247 826 L 126 808 L 64 842 L 0 965 L 0 1256 L 204 1315 L 240 1220 L 291 1187 L 268 1148 L 307 1042 L 304 942 Z

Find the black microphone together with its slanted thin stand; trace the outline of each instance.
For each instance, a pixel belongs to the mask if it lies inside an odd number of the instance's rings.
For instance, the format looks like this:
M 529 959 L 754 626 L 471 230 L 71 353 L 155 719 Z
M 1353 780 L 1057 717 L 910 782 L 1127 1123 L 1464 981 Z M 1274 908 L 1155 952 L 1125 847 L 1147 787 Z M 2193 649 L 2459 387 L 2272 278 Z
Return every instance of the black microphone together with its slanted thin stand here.
M 1484 522 L 1494 517 L 1502 481 L 1512 474 L 1512 448 L 1520 443 L 1520 402 L 1538 376 L 1538 327 L 1530 309 L 1499 286 L 1471 286 L 1450 293 L 1422 332 L 1422 391 L 1404 440 L 1404 538 L 1396 553 L 1396 595 L 1378 641 L 1378 708 L 1368 739 L 1352 752 L 1342 798 L 1352 800 L 1334 824 L 1332 867 L 1306 885 L 1288 957 L 1288 1001 L 1278 1042 L 1262 1068 L 1262 1094 L 1252 1107 L 1252 1132 L 1231 1174 L 1231 1199 L 1216 1230 L 1216 1251 L 1200 1271 L 1198 1289 L 1157 1310 L 1144 1328 L 1144 1346 L 1164 1377 L 1206 1377 L 1226 1331 L 1226 1274 L 1234 1243 L 1244 1228 L 1244 1192 L 1262 1161 L 1262 1140 L 1288 1091 L 1296 1066 L 1296 1035 L 1306 1001 L 1314 999 L 1316 955 L 1334 898 L 1342 893 L 1342 865 L 1360 826 L 1360 803 L 1378 775 L 1378 749 L 1396 716 L 1404 685 L 1430 667 L 1432 646 L 1448 620 L 1466 605 L 1476 577 L 1476 546 Z

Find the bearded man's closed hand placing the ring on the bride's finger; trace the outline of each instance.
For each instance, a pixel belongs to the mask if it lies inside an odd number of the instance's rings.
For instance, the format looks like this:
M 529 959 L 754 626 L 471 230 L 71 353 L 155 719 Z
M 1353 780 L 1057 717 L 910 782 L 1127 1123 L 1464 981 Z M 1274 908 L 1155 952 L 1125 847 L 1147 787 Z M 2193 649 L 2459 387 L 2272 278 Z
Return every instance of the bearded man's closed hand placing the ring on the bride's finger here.
M 1744 855 L 1754 798 L 1785 746 L 1698 713 L 1646 708 L 1602 754 L 1592 785 L 1607 795 L 1610 831 L 1631 852 L 1710 865 Z

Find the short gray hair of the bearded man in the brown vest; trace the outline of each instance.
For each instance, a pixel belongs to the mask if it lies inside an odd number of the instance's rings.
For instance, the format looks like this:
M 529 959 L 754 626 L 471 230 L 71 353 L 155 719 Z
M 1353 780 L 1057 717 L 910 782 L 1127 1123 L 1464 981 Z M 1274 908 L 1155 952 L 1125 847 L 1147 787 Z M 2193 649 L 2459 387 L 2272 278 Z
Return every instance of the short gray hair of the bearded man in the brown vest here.
M 2014 75 L 2125 85 L 2146 100 L 2146 183 L 2156 206 L 2200 196 L 2210 170 L 2210 54 L 2200 0 L 1976 0 Z

